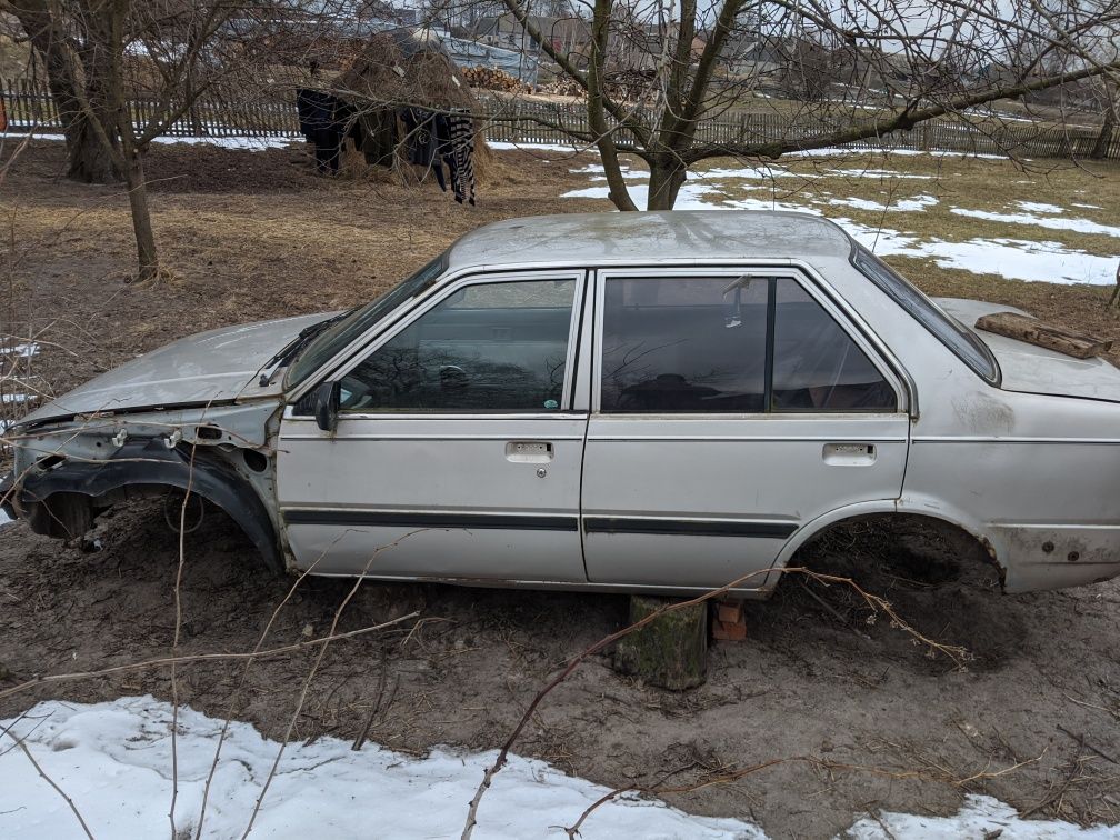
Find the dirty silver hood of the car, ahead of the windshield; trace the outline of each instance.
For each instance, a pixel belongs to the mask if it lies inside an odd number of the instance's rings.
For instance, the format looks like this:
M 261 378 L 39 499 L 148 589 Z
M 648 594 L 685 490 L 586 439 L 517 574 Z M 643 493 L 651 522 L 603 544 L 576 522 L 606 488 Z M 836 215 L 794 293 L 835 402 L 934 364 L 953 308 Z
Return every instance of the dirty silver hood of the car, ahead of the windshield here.
M 301 329 L 326 317 L 304 315 L 180 338 L 103 373 L 20 422 L 233 400 Z

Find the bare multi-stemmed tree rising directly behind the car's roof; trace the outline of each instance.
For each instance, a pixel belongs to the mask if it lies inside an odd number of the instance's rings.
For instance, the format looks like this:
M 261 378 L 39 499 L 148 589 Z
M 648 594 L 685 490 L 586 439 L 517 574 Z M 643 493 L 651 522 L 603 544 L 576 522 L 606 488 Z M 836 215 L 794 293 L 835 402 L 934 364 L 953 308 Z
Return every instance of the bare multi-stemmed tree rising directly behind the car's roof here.
M 529 0 L 503 2 L 582 91 L 587 129 L 554 128 L 598 148 L 624 211 L 636 205 L 620 152 L 650 168 L 647 208 L 669 209 L 688 169 L 706 159 L 874 141 L 1120 69 L 1114 52 L 1098 48 L 1114 43 L 1120 0 L 580 0 L 590 16 L 586 62 L 556 47 Z M 703 127 L 734 123 L 773 85 L 775 67 L 787 82 L 784 133 L 760 134 L 743 120 L 730 139 L 712 139 Z M 620 75 L 644 90 L 613 85 Z

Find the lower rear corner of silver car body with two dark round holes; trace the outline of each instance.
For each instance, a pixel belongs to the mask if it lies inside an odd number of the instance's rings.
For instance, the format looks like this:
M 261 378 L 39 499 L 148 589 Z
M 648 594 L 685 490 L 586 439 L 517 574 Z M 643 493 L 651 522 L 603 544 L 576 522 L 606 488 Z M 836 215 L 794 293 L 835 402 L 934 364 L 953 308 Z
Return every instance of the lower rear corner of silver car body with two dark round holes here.
M 1100 584 L 1120 577 L 1120 525 L 1002 525 L 1006 591 Z

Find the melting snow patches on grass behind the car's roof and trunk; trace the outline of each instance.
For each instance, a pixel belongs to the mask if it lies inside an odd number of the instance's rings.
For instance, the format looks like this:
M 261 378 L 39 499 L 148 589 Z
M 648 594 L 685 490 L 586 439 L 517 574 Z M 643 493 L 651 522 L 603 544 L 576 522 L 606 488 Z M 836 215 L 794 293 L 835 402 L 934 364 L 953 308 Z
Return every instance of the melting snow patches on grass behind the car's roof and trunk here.
M 837 150 L 833 149 L 832 152 L 836 153 Z M 608 189 L 601 165 L 592 164 L 571 171 L 586 172 L 592 186 L 564 193 L 566 198 L 607 198 Z M 647 176 L 628 169 L 624 170 L 624 175 L 634 202 L 640 207 L 644 206 L 648 196 Z M 823 190 L 815 190 L 812 196 L 800 195 L 777 186 L 784 186 L 785 181 L 794 178 L 825 181 L 831 178 L 837 180 L 837 188 L 842 188 L 844 180 L 853 177 L 906 181 L 924 180 L 930 176 L 907 175 L 881 168 L 825 169 L 819 175 L 793 171 L 780 165 L 715 168 L 690 172 L 675 206 L 678 209 L 766 209 L 827 215 L 877 254 L 928 258 L 941 268 L 963 269 L 976 274 L 1063 283 L 1112 284 L 1116 281 L 1116 255 L 1092 254 L 1066 248 L 1060 242 L 1029 239 L 1030 227 L 1120 237 L 1120 227 L 1068 215 L 1066 208 L 1057 205 L 1016 202 L 1006 212 L 950 207 L 949 212 L 954 215 L 1005 224 L 1011 234 L 953 242 L 935 236 L 918 236 L 902 228 L 899 221 L 905 220 L 905 214 L 924 213 L 941 204 L 937 197 L 924 190 L 879 203 L 856 196 L 836 196 Z M 880 213 L 885 218 L 890 218 L 890 224 L 872 227 L 834 215 L 838 209 L 846 207 Z M 1071 204 L 1071 207 L 1094 208 L 1084 204 Z

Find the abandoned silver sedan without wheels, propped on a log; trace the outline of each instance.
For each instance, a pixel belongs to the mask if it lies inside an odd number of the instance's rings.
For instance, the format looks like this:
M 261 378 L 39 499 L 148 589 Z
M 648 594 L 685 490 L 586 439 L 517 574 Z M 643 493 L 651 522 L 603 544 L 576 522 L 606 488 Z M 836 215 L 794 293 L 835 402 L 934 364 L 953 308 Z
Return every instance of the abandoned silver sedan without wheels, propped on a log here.
M 1008 591 L 1120 573 L 1120 371 L 971 325 L 782 213 L 488 225 L 352 311 L 185 338 L 15 429 L 8 510 L 76 536 L 189 488 L 274 568 L 687 592 L 868 516 Z

